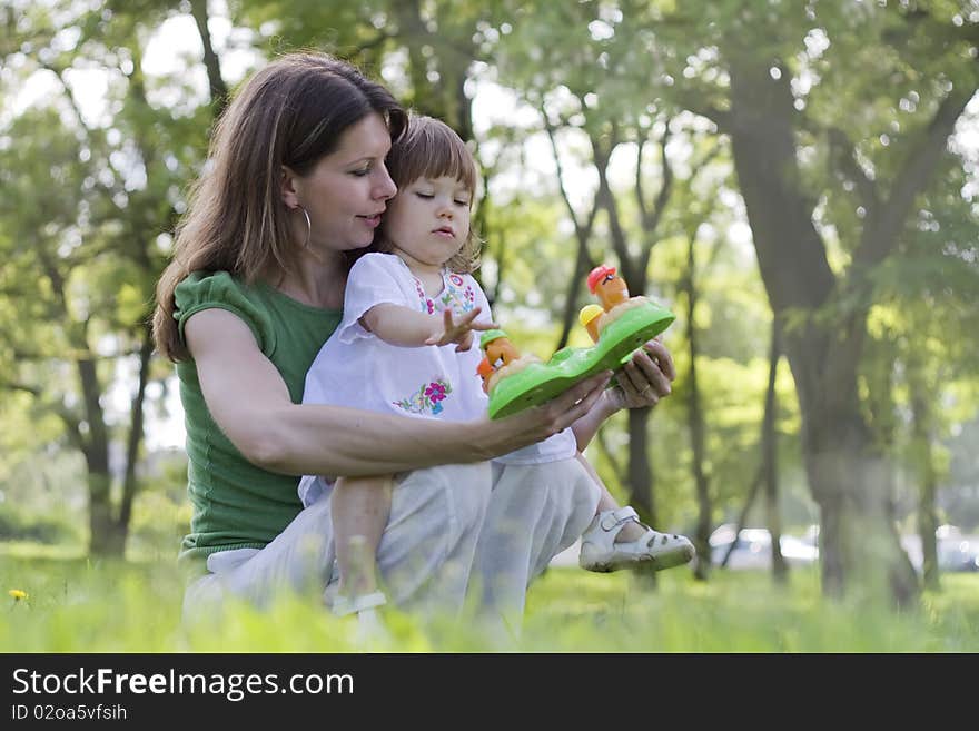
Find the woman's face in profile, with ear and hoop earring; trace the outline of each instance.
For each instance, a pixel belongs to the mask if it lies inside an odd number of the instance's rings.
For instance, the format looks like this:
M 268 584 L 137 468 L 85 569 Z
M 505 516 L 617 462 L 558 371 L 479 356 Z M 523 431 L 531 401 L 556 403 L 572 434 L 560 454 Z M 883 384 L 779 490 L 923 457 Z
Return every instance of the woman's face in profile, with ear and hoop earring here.
M 309 214 L 309 248 L 345 251 L 369 245 L 374 229 L 397 188 L 384 158 L 390 149 L 390 132 L 380 115 L 372 113 L 348 127 L 337 149 L 324 156 L 300 176 L 286 169 L 283 199 L 286 206 L 301 206 Z M 298 210 L 298 209 L 297 209 Z M 306 219 L 293 216 L 298 241 L 306 240 Z

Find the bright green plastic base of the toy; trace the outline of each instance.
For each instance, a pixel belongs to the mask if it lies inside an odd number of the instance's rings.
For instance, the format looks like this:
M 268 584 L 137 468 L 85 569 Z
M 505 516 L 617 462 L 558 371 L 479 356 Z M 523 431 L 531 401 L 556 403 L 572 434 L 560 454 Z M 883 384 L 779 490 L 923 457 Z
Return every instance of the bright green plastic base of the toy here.
M 506 376 L 490 392 L 490 418 L 538 406 L 601 371 L 617 371 L 633 353 L 676 319 L 665 307 L 646 302 L 609 323 L 590 348 L 562 348 L 547 363 L 532 363 Z

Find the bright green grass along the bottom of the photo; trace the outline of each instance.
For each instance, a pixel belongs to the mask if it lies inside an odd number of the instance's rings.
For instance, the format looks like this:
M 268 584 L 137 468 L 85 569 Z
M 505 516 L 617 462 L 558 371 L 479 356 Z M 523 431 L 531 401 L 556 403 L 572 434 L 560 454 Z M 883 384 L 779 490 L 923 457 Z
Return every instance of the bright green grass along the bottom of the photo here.
M 169 562 L 93 563 L 62 555 L 0 554 L 2 652 L 349 652 L 355 624 L 315 602 L 233 606 L 216 628 L 179 622 L 182 584 Z M 9 590 L 27 592 L 14 600 Z M 830 602 L 813 571 L 777 589 L 765 572 L 686 570 L 654 590 L 626 574 L 552 569 L 528 596 L 520 639 L 491 640 L 473 623 L 421 624 L 388 615 L 393 652 L 977 652 L 979 574 L 947 574 L 920 609 Z

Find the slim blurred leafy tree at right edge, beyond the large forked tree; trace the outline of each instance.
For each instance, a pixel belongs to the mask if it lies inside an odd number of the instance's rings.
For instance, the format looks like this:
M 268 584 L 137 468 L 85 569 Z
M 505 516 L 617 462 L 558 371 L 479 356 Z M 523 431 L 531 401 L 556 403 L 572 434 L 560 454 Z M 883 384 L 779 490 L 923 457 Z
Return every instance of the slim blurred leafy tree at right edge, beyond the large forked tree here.
M 897 255 L 873 275 L 876 305 L 869 316 L 871 355 L 862 368 L 872 404 L 871 424 L 898 468 L 917 483 L 924 585 L 939 589 L 936 532 L 938 493 L 947 478 L 942 442 L 975 417 L 975 349 L 979 327 L 979 256 L 968 221 L 962 171 L 945 189 L 922 196 L 913 227 Z M 874 395 L 877 397 L 874 398 Z

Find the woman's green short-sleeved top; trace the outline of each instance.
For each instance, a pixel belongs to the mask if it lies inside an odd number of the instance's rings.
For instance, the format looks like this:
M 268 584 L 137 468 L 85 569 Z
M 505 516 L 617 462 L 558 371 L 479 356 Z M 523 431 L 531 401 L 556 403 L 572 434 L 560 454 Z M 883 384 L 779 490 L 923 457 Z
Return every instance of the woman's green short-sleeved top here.
M 195 273 L 177 285 L 174 317 L 184 337 L 191 315 L 218 307 L 239 317 L 281 374 L 293 403 L 303 399 L 306 371 L 340 322 L 342 310 L 310 307 L 266 284 L 247 285 L 227 271 Z M 181 563 L 202 567 L 216 551 L 261 549 L 296 516 L 299 476 L 250 464 L 215 423 L 192 359 L 177 364 L 187 428 L 187 492 L 192 506 Z M 195 561 L 197 560 L 197 561 Z

